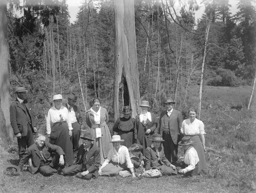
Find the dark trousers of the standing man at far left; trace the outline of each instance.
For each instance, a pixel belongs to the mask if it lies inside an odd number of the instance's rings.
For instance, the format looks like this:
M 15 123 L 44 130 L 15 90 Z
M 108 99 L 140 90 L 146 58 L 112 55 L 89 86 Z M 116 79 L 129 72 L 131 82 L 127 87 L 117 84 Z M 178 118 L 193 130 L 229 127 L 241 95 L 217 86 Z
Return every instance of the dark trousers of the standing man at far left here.
M 31 125 L 28 123 L 28 133 L 27 136 L 22 136 L 17 138 L 18 147 L 19 147 L 19 160 L 21 160 L 26 152 L 27 147 L 35 143 Z

